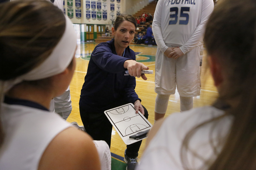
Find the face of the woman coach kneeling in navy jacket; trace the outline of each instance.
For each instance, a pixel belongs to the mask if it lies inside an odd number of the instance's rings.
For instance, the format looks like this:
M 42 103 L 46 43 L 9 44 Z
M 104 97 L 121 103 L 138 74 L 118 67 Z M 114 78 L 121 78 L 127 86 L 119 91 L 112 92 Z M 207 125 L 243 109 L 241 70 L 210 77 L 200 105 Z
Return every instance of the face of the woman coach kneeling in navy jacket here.
M 130 21 L 123 21 L 117 30 L 112 28 L 112 34 L 115 36 L 116 49 L 125 49 L 132 42 L 135 35 L 135 25 Z

